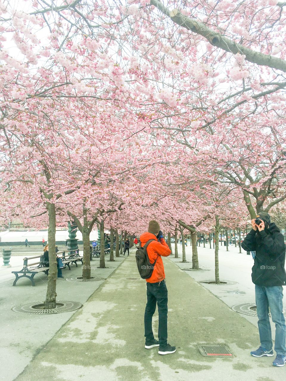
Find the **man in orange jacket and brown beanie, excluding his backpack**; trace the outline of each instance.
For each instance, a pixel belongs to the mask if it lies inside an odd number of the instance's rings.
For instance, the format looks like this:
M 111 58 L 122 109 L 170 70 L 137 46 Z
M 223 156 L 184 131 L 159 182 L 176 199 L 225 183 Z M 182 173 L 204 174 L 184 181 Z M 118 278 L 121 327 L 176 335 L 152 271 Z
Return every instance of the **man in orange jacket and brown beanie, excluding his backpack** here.
M 147 255 L 151 264 L 153 264 L 156 259 L 157 261 L 151 277 L 146 279 L 147 304 L 144 315 L 146 337 L 145 348 L 151 349 L 154 347 L 159 347 L 158 353 L 161 355 L 167 355 L 174 353 L 176 351 L 176 347 L 172 347 L 167 343 L 168 291 L 166 287 L 164 265 L 161 256 L 169 256 L 171 254 L 171 250 L 163 238 L 159 224 L 155 220 L 149 222 L 148 232 L 143 233 L 140 236 L 141 247 L 143 247 L 145 243 L 150 239 L 154 239 L 154 241 L 149 243 L 147 247 Z M 159 312 L 159 341 L 154 338 L 152 330 L 152 317 L 156 310 L 156 304 L 158 304 Z

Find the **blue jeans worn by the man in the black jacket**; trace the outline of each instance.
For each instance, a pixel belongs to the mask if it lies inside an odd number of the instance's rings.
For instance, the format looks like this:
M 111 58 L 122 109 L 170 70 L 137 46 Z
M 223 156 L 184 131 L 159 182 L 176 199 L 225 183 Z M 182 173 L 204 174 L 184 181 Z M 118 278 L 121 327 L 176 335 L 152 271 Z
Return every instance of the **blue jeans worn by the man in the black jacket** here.
M 257 306 L 258 329 L 261 346 L 267 351 L 272 349 L 271 326 L 269 320 L 269 308 L 272 321 L 275 323 L 275 352 L 278 355 L 286 355 L 286 326 L 283 315 L 283 288 L 282 286 L 258 286 L 255 285 L 255 300 Z

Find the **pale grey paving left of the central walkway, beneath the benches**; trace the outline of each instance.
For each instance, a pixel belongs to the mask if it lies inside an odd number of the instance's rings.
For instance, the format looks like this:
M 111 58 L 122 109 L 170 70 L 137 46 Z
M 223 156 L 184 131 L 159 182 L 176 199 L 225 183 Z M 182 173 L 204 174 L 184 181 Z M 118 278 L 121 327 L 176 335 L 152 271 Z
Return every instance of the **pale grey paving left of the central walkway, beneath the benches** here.
M 99 259 L 95 258 L 91 262 L 92 276 L 103 280 L 69 282 L 66 279 L 58 279 L 57 300 L 77 301 L 84 304 L 90 295 L 106 281 L 104 278 L 108 278 L 125 258 L 115 258 L 115 262 L 109 262 L 108 259 L 109 256 L 106 255 L 106 266 L 109 267 L 106 269 L 97 268 Z M 17 269 L 21 269 L 21 266 Z M 5 269 L 5 271 L 9 270 Z M 72 265 L 71 271 L 64 269 L 63 275 L 65 278 L 80 277 L 82 265 L 78 264 L 78 267 Z M 48 280 L 47 275 L 41 272 L 34 277 L 35 287 L 32 287 L 29 279 L 23 278 L 19 279 L 13 287 L 14 279 L 14 275 L 8 280 L 5 279 L 5 275 L 0 276 L 0 380 L 5 381 L 15 379 L 75 313 L 72 311 L 53 315 L 26 315 L 12 311 L 14 306 L 37 301 L 42 303 L 45 300 Z M 35 380 L 35 378 L 31 379 Z M 38 379 L 40 380 L 41 377 Z

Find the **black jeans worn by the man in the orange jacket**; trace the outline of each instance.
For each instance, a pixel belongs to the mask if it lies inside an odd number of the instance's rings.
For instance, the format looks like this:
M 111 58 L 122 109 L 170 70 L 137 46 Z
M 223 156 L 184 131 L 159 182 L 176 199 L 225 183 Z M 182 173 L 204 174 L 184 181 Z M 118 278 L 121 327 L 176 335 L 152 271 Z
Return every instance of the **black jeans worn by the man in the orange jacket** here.
M 144 315 L 146 343 L 154 339 L 152 330 L 152 317 L 158 304 L 159 330 L 158 338 L 160 346 L 167 345 L 167 313 L 168 313 L 168 290 L 166 282 L 149 283 L 147 282 L 147 304 Z

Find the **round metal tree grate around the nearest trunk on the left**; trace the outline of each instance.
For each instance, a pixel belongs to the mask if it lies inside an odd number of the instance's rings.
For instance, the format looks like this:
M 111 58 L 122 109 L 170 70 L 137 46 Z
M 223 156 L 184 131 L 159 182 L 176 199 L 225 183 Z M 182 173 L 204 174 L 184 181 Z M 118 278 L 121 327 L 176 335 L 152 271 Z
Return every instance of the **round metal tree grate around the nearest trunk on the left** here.
M 21 314 L 34 314 L 34 315 L 47 315 L 47 314 L 61 314 L 63 312 L 70 312 L 82 307 L 79 302 L 71 301 L 57 301 L 56 308 L 42 309 L 42 302 L 34 302 L 23 304 L 22 306 L 13 307 L 14 312 L 20 312 Z

